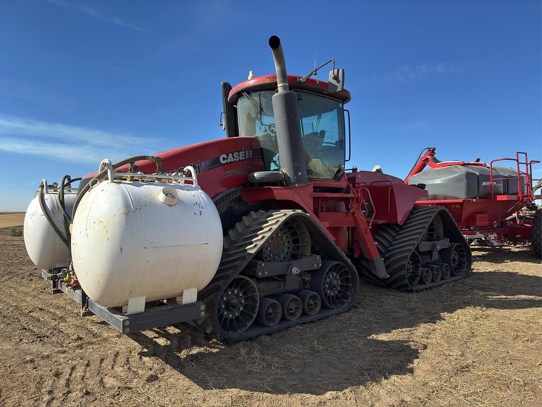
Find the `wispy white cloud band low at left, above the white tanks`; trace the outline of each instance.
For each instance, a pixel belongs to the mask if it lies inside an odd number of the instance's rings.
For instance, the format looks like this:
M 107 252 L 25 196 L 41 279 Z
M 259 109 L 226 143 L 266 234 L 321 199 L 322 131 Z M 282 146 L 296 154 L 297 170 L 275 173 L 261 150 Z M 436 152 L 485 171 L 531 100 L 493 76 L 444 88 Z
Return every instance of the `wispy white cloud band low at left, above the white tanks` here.
M 159 142 L 153 138 L 152 142 Z M 74 163 L 95 163 L 154 150 L 148 138 L 62 123 L 0 115 L 0 150 L 58 158 Z

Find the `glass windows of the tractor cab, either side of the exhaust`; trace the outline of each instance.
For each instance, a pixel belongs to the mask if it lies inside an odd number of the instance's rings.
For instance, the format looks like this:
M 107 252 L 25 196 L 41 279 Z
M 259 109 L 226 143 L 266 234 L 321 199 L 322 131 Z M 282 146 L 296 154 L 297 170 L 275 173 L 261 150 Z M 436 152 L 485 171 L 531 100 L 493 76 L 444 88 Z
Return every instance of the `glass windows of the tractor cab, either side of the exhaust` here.
M 237 101 L 239 135 L 260 140 L 267 170 L 280 168 L 271 103 L 274 93 L 270 90 L 243 92 Z M 343 104 L 309 92 L 296 93 L 307 175 L 309 178 L 337 179 L 345 162 Z

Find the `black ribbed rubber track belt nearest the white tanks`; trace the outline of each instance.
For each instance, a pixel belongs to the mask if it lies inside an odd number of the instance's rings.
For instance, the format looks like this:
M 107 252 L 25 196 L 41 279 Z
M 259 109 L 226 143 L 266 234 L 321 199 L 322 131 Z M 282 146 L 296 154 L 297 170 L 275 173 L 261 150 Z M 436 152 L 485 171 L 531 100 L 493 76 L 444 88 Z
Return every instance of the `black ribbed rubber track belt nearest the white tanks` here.
M 192 325 L 204 332 L 211 333 L 215 331 L 217 335 L 222 336 L 220 331 L 215 326 L 215 307 L 216 298 L 222 293 L 225 287 L 230 281 L 235 278 L 246 267 L 250 260 L 254 257 L 263 243 L 273 234 L 276 228 L 284 221 L 291 219 L 294 216 L 302 217 L 305 222 L 313 222 L 311 218 L 302 211 L 295 209 L 292 210 L 275 210 L 275 211 L 257 211 L 250 212 L 244 216 L 240 222 L 237 222 L 235 227 L 231 228 L 224 236 L 224 248 L 222 251 L 222 260 L 218 270 L 207 287 L 198 292 L 200 301 L 205 303 L 207 314 L 197 321 L 192 321 Z M 309 232 L 311 228 L 309 227 Z M 324 233 L 321 233 L 321 237 L 327 238 Z M 337 260 L 346 263 L 356 275 L 356 269 L 350 260 L 341 252 L 338 247 L 331 241 L 331 244 L 336 249 L 335 255 Z M 359 284 L 358 284 L 359 287 Z M 357 295 L 357 292 L 356 292 Z M 355 299 L 355 295 L 354 298 Z M 230 341 L 244 340 L 251 338 L 252 336 L 261 335 L 264 333 L 275 332 L 276 330 L 284 329 L 288 326 L 296 325 L 298 323 L 314 321 L 332 314 L 338 314 L 350 309 L 353 306 L 354 301 L 351 300 L 347 307 L 340 309 L 326 309 L 320 311 L 315 316 L 301 316 L 295 321 L 281 320 L 278 325 L 274 327 L 265 327 L 264 329 L 258 329 L 257 332 L 251 334 L 249 328 L 246 332 L 236 336 L 222 336 Z M 263 332 L 264 331 L 264 332 Z

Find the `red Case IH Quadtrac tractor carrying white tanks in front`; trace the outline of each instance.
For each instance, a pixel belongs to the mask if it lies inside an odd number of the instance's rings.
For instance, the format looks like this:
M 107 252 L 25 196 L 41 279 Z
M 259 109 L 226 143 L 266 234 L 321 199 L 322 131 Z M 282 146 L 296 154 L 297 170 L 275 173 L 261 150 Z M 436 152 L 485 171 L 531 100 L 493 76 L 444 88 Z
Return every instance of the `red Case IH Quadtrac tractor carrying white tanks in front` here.
M 468 275 L 449 212 L 415 207 L 425 189 L 345 169 L 343 69 L 287 75 L 269 45 L 275 75 L 222 84 L 227 137 L 104 160 L 78 190 L 43 180 L 27 250 L 83 316 L 124 333 L 190 321 L 235 341 L 349 310 L 360 277 L 418 291 Z

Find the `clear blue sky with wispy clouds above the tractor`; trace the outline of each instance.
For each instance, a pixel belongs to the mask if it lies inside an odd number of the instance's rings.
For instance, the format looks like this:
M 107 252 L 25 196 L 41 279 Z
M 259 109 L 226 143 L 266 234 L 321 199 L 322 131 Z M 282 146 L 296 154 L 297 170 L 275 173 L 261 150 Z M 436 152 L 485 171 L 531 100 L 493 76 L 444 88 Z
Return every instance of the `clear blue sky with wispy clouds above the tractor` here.
M 345 68 L 360 169 L 404 177 L 432 146 L 440 160 L 540 160 L 540 4 L 4 1 L 0 211 L 104 157 L 223 137 L 220 82 L 273 73 L 273 34 L 289 73 L 317 50 Z

